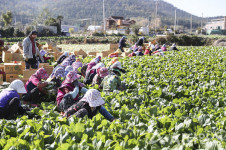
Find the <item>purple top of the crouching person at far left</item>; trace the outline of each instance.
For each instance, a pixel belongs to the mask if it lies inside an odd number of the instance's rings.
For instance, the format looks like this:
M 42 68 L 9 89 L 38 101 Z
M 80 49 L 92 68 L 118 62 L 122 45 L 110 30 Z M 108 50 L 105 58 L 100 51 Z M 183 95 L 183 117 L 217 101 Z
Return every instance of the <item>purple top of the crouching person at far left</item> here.
M 13 98 L 20 98 L 16 91 L 3 90 L 0 93 L 0 108 L 4 108 L 8 105 L 9 101 Z

